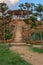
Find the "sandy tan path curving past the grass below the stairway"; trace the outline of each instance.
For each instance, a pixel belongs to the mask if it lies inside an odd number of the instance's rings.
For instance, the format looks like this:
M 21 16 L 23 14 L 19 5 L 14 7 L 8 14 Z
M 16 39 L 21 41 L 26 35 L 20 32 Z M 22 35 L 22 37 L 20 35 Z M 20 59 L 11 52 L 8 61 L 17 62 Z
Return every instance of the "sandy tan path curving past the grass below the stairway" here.
M 32 65 L 43 65 L 43 54 L 34 53 L 28 50 L 27 46 L 12 46 L 11 51 L 19 53 L 27 62 Z

